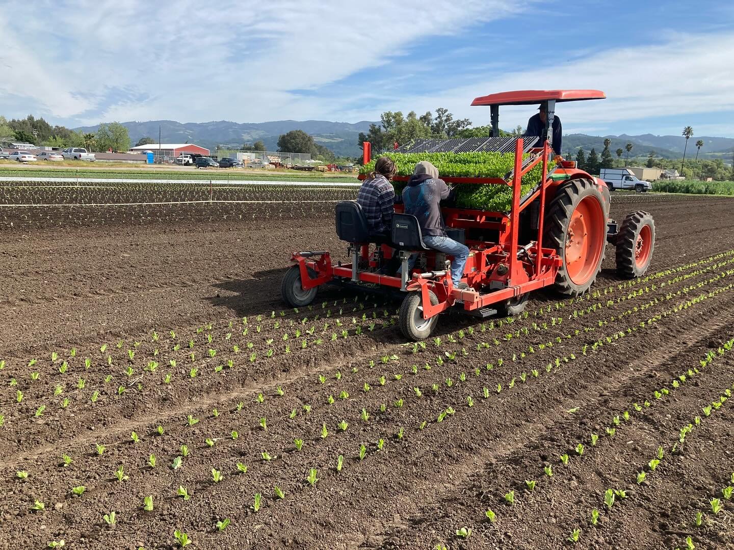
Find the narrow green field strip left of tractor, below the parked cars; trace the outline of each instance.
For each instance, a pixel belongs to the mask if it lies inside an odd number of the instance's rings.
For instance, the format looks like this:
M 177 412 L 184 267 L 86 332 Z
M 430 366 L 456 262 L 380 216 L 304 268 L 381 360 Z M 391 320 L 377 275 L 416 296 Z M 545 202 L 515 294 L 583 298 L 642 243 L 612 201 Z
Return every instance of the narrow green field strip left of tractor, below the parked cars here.
M 58 163 L 62 164 L 62 163 Z M 21 165 L 0 161 L 0 176 L 6 177 L 105 177 L 140 180 L 295 180 L 295 181 L 346 181 L 355 182 L 356 175 L 341 172 L 297 172 L 287 169 L 192 169 L 171 166 L 122 165 L 121 163 L 95 164 L 79 162 L 72 166 L 54 164 Z

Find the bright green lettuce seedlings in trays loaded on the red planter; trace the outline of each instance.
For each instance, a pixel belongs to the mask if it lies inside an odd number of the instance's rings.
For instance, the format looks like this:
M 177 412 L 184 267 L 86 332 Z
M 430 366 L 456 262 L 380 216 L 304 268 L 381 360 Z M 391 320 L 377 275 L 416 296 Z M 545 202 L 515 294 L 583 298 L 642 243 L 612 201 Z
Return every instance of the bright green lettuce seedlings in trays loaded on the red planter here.
M 515 167 L 515 153 L 387 153 L 396 165 L 397 175 L 413 174 L 415 164 L 429 161 L 436 166 L 441 177 L 506 177 Z M 528 158 L 525 155 L 523 158 Z M 362 166 L 366 175 L 374 170 L 377 159 Z M 542 164 L 537 164 L 523 176 L 520 196 L 540 183 Z M 395 192 L 402 193 L 406 183 L 394 182 Z M 490 212 L 508 212 L 512 206 L 512 188 L 494 184 L 457 184 L 456 205 Z

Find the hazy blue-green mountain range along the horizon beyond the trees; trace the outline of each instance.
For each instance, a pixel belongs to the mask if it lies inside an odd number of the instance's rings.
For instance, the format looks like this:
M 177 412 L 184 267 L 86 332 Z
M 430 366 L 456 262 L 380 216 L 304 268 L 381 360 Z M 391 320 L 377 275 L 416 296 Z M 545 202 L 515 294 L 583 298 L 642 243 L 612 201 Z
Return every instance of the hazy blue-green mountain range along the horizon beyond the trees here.
M 376 122 L 377 123 L 377 122 Z M 150 120 L 149 122 L 123 122 L 128 128 L 130 139 L 135 144 L 140 138 L 148 136 L 158 141 L 159 127 L 163 143 L 195 143 L 214 150 L 217 145 L 230 145 L 239 148 L 244 143 L 264 142 L 268 150 L 277 150 L 277 139 L 282 133 L 291 130 L 302 130 L 313 136 L 317 144 L 333 150 L 337 156 L 356 157 L 361 154 L 357 146 L 360 132 L 367 132 L 372 122 L 363 120 L 351 124 L 349 122 L 330 122 L 328 120 L 275 120 L 273 122 L 175 122 L 175 120 Z M 95 132 L 98 126 L 75 128 L 84 132 Z M 601 153 L 604 139 L 611 139 L 611 151 L 624 149 L 625 144 L 633 144 L 631 156 L 647 156 L 650 151 L 661 158 L 680 158 L 686 139 L 683 136 L 654 136 L 645 133 L 641 136 L 587 136 L 583 133 L 572 133 L 563 138 L 563 152 L 581 147 L 589 153 L 592 147 Z M 712 136 L 694 136 L 688 141 L 688 154 L 696 154 L 696 142 L 701 139 L 704 146 L 699 158 L 731 158 L 734 138 Z M 627 153 L 625 152 L 624 155 Z M 624 155 L 622 155 L 624 157 Z

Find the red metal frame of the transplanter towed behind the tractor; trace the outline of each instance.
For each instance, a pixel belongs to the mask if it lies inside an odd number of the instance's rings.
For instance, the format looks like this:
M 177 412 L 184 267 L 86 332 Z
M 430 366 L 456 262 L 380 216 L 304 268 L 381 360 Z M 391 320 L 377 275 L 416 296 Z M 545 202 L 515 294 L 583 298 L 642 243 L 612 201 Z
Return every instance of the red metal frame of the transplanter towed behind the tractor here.
M 364 161 L 369 162 L 371 150 L 368 144 L 364 147 Z M 509 213 L 487 212 L 470 208 L 442 208 L 447 227 L 460 229 L 484 228 L 498 232 L 497 242 L 467 241 L 470 249 L 470 257 L 467 261 L 462 280 L 468 283 L 472 290 L 459 290 L 454 288 L 451 276 L 443 276 L 426 279 L 420 273 L 414 271 L 413 278 L 407 284 L 407 291 L 420 292 L 423 298 L 423 316 L 428 319 L 433 315 L 446 311 L 453 307 L 458 300 L 463 302 L 467 311 L 487 307 L 510 298 L 516 298 L 525 293 L 539 288 L 552 285 L 556 280 L 556 273 L 562 265 L 562 260 L 554 249 L 539 246 L 542 243 L 542 219 L 545 216 L 546 197 L 548 188 L 557 186 L 558 183 L 548 178 L 548 155 L 551 149 L 546 143 L 536 158 L 523 167 L 523 138 L 515 142 L 515 169 L 512 180 L 506 181 L 497 177 L 445 177 L 447 183 L 454 184 L 482 184 L 482 185 L 509 185 L 512 187 L 512 208 Z M 520 204 L 520 186 L 522 178 L 537 164 L 542 163 L 542 184 L 536 191 Z M 564 169 L 572 169 L 563 166 Z M 574 171 L 575 172 L 575 171 Z M 585 172 L 584 172 L 585 174 Z M 588 175 L 586 175 L 588 177 Z M 395 180 L 407 180 L 407 177 L 395 177 Z M 520 213 L 540 197 L 539 201 L 539 227 L 537 239 L 522 247 L 518 244 L 520 234 Z M 398 206 L 396 211 L 401 208 Z M 385 247 L 390 253 L 389 247 Z M 429 262 L 435 263 L 436 252 L 427 251 Z M 518 257 L 522 256 L 522 257 Z M 368 245 L 361 246 L 360 257 L 368 265 L 377 263 L 371 260 L 368 253 Z M 305 290 L 333 279 L 352 279 L 351 263 L 332 265 L 328 253 L 324 253 L 314 260 L 312 257 L 303 257 L 293 254 L 292 263 L 297 263 L 301 271 L 302 285 Z M 310 270 L 316 272 L 316 277 L 311 278 Z M 359 281 L 373 283 L 385 287 L 399 289 L 401 279 L 395 276 L 379 275 L 374 271 L 359 272 Z M 489 293 L 473 290 L 481 289 L 487 285 L 501 287 Z M 438 303 L 432 305 L 429 300 L 429 291 L 438 298 Z

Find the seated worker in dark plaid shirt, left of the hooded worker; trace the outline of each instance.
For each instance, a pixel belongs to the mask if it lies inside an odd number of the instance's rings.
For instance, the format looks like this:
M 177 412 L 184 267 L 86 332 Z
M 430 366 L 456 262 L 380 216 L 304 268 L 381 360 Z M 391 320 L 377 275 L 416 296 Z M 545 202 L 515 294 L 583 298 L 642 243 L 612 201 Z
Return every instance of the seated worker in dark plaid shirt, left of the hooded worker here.
M 390 158 L 378 158 L 374 171 L 364 180 L 357 194 L 357 204 L 362 208 L 367 220 L 367 230 L 370 237 L 374 238 L 374 242 L 378 244 L 390 242 L 395 203 L 395 189 L 390 180 L 396 172 L 395 163 Z M 393 275 L 399 265 L 400 260 L 393 251 L 393 257 L 379 271 Z

